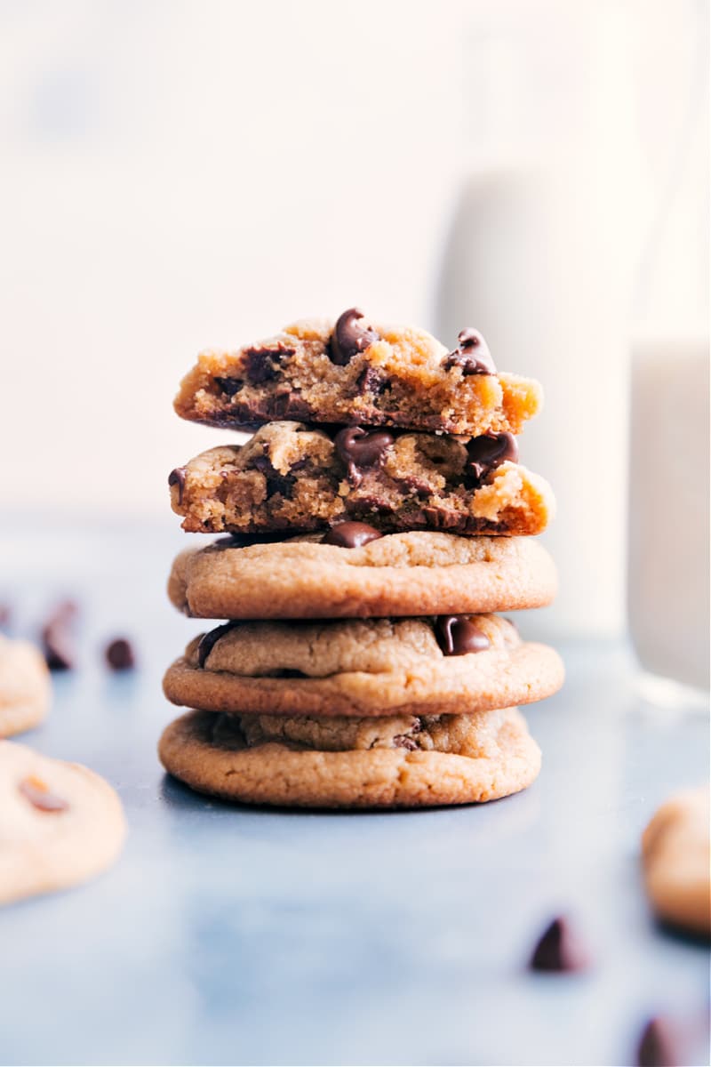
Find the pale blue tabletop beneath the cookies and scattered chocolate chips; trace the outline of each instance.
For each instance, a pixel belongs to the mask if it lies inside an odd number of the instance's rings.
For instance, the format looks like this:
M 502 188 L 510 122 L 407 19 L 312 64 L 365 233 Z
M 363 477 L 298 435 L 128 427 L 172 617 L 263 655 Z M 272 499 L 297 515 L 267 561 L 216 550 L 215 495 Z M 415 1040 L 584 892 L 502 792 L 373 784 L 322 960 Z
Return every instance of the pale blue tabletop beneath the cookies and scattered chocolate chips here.
M 231 807 L 156 757 L 174 717 L 161 673 L 200 630 L 164 595 L 185 542 L 161 527 L 37 543 L 5 534 L 0 598 L 22 633 L 78 596 L 80 664 L 19 739 L 106 776 L 130 835 L 109 873 L 0 911 L 0 1063 L 624 1065 L 650 1015 L 704 1013 L 708 947 L 650 917 L 639 842 L 665 797 L 707 780 L 708 719 L 645 703 L 624 647 L 561 649 L 565 688 L 527 713 L 543 771 L 518 796 Z M 123 633 L 141 666 L 111 675 L 100 649 Z M 528 972 L 561 912 L 593 968 Z

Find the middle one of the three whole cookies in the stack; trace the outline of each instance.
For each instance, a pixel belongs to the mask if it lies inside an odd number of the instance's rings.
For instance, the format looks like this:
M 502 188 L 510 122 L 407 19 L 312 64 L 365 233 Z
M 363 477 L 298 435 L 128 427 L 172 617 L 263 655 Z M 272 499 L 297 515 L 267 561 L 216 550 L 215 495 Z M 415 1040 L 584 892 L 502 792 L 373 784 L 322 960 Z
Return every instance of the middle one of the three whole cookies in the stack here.
M 551 696 L 560 656 L 497 616 L 240 622 L 195 638 L 165 696 L 213 712 L 455 715 Z

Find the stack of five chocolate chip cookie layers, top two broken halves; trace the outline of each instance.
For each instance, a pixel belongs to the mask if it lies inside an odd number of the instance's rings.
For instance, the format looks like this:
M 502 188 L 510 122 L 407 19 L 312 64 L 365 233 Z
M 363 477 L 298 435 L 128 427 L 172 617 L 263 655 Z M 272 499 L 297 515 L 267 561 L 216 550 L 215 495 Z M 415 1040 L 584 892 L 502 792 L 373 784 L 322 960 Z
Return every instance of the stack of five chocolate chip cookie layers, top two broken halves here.
M 183 529 L 227 536 L 173 564 L 172 602 L 220 625 L 165 674 L 192 708 L 163 733 L 165 768 L 204 793 L 316 808 L 529 785 L 540 751 L 516 705 L 554 692 L 563 667 L 492 612 L 555 593 L 531 538 L 553 496 L 516 442 L 540 403 L 475 330 L 450 351 L 356 308 L 204 352 L 176 411 L 254 436 L 168 479 Z

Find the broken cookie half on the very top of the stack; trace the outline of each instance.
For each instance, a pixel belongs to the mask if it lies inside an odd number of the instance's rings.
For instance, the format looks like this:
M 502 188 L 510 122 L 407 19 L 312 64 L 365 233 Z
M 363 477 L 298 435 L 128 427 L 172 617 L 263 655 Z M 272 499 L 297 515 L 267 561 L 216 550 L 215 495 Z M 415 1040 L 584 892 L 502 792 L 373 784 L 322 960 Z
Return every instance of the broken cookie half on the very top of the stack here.
M 463 331 L 450 352 L 424 330 L 374 324 L 355 308 L 335 323 L 303 320 L 237 351 L 203 352 L 175 410 L 233 429 L 294 419 L 518 433 L 542 407 L 540 386 L 497 373 L 475 333 Z

